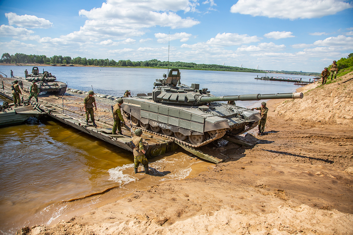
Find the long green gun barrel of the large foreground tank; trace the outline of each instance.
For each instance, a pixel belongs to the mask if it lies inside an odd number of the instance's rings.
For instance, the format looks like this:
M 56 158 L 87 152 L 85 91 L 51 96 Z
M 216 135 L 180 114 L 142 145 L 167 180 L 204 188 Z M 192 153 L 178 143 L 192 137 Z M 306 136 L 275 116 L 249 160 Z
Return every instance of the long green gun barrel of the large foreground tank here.
M 277 93 L 277 94 L 249 94 L 249 95 L 230 95 L 230 96 L 216 96 L 200 98 L 201 102 L 213 102 L 213 101 L 231 101 L 231 100 L 269 100 L 269 99 L 302 99 L 303 93 Z

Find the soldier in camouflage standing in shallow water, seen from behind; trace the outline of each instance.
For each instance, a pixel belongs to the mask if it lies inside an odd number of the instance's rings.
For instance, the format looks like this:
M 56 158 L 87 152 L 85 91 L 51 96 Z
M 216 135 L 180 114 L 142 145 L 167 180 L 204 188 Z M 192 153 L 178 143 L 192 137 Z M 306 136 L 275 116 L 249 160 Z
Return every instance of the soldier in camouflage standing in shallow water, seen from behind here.
M 135 145 L 133 149 L 133 160 L 134 160 L 134 170 L 135 174 L 137 173 L 137 168 L 140 165 L 140 163 L 143 165 L 145 168 L 145 174 L 148 174 L 148 160 L 145 156 L 145 149 L 143 148 L 142 144 L 142 130 L 141 129 L 136 129 L 135 130 L 135 135 L 134 137 L 131 138 L 132 143 Z

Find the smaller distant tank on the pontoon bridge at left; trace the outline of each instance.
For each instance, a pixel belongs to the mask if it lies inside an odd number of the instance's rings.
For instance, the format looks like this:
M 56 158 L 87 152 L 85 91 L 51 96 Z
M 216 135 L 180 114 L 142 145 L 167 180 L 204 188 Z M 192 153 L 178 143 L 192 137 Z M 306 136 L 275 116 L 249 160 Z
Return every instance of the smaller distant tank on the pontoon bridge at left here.
M 58 95 L 65 94 L 67 85 L 56 81 L 55 76 L 47 71 L 39 73 L 38 67 L 32 68 L 32 74 L 27 74 L 25 79 L 19 80 L 20 87 L 27 93 L 30 92 L 32 81 L 36 81 L 41 92 L 53 92 Z

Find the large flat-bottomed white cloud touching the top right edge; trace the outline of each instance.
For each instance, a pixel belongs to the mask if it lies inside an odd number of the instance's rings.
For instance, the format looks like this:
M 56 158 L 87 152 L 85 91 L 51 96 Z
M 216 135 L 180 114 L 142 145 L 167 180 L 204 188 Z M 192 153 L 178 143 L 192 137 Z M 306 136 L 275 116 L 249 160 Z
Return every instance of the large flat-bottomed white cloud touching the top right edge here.
M 231 12 L 294 20 L 330 16 L 352 7 L 339 0 L 239 0 Z

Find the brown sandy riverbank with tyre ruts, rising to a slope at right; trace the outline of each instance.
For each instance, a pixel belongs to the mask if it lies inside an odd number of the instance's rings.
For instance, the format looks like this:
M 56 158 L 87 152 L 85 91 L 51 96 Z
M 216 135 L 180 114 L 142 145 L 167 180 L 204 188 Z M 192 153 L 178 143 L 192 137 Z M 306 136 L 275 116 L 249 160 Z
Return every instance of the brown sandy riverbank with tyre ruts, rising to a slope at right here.
M 342 81 L 269 101 L 266 135 L 247 136 L 258 144 L 228 143 L 229 159 L 195 178 L 18 234 L 353 234 L 353 80 Z

